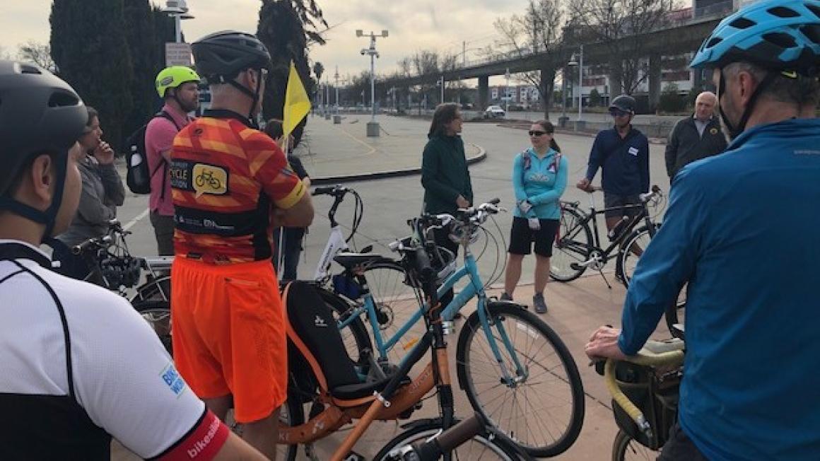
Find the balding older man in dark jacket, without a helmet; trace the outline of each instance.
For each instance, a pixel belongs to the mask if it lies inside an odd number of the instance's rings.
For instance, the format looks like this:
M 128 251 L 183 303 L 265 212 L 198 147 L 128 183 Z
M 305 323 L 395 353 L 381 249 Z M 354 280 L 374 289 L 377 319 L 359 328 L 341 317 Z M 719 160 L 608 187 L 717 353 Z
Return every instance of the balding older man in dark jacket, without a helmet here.
M 672 129 L 666 148 L 669 182 L 686 164 L 726 149 L 726 137 L 720 129 L 720 121 L 714 116 L 716 104 L 717 97 L 704 91 L 695 99 L 695 114 L 678 121 Z

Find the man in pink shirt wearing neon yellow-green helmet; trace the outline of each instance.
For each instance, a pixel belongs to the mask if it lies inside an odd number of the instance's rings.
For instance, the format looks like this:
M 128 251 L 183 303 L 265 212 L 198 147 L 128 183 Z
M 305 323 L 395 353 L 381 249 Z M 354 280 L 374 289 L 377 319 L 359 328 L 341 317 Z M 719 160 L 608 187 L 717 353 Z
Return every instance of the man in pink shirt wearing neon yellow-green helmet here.
M 157 93 L 165 100 L 161 116 L 155 116 L 145 129 L 145 151 L 151 172 L 151 198 L 148 201 L 151 225 L 157 235 L 157 254 L 174 254 L 174 204 L 171 200 L 171 146 L 174 136 L 190 122 L 188 112 L 199 105 L 199 75 L 185 66 L 171 66 L 157 74 Z

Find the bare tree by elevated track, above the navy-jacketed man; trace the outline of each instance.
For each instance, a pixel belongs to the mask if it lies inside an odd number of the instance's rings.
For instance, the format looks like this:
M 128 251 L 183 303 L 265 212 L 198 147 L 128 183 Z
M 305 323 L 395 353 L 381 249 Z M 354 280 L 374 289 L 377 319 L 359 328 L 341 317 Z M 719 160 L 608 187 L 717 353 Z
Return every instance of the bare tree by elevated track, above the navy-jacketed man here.
M 565 34 L 572 33 L 574 43 L 603 43 L 613 77 L 610 96 L 632 94 L 649 75 L 644 34 L 667 27 L 675 6 L 676 0 L 570 0 Z

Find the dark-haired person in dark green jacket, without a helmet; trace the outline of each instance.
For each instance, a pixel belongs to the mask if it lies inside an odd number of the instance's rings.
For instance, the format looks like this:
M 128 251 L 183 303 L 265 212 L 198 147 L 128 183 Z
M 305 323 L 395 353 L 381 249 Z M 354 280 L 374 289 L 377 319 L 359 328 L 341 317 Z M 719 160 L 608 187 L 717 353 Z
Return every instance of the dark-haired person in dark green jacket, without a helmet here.
M 462 114 L 455 103 L 435 108 L 427 145 L 421 159 L 421 185 L 424 186 L 424 211 L 454 214 L 472 203 L 472 184 L 464 155 Z M 458 254 L 458 244 L 449 239 L 450 228 L 435 230 L 435 243 Z M 441 297 L 446 306 L 453 290 Z

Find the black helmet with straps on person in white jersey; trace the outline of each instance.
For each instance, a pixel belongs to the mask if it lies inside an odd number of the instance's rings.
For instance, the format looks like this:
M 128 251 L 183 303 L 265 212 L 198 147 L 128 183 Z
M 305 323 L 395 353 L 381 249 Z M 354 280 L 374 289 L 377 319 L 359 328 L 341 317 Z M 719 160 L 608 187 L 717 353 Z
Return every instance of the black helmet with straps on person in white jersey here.
M 0 210 L 16 212 L 47 226 L 62 203 L 68 151 L 88 120 L 80 96 L 69 84 L 33 64 L 0 61 Z M 45 212 L 11 198 L 11 185 L 35 155 L 57 156 L 57 189 Z

